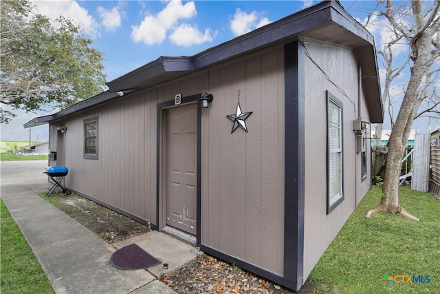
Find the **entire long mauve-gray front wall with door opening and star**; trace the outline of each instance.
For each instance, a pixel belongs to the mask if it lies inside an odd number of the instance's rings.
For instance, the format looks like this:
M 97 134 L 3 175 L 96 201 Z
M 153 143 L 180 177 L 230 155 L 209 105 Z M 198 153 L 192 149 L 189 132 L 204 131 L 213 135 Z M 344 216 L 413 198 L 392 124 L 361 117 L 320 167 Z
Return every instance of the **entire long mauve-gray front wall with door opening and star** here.
M 214 95 L 202 109 L 201 243 L 283 274 L 284 56 L 272 48 L 150 90 L 123 96 L 58 125 L 69 168 L 66 186 L 155 223 L 157 103 L 175 94 Z M 238 93 L 249 132 L 231 134 Z M 83 158 L 83 120 L 98 116 L 98 160 Z M 162 173 L 162 172 L 161 172 Z M 161 178 L 161 180 L 163 180 Z M 164 193 L 160 193 L 164 212 Z M 162 218 L 164 226 L 164 219 Z

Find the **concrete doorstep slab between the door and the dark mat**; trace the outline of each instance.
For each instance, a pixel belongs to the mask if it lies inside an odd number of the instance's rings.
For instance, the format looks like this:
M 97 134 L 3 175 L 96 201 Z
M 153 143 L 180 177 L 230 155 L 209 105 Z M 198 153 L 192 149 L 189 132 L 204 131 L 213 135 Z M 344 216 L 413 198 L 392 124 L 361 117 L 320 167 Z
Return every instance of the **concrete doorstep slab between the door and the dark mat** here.
M 164 273 L 173 272 L 184 266 L 187 262 L 197 257 L 197 248 L 186 244 L 176 238 L 160 233 L 158 231 L 150 231 L 142 235 L 135 236 L 129 240 L 116 242 L 113 244 L 116 249 L 121 249 L 129 244 L 137 244 L 146 252 L 153 255 L 160 264 L 151 266 L 147 270 L 156 277 L 162 277 Z M 168 269 L 164 271 L 162 264 L 168 264 Z

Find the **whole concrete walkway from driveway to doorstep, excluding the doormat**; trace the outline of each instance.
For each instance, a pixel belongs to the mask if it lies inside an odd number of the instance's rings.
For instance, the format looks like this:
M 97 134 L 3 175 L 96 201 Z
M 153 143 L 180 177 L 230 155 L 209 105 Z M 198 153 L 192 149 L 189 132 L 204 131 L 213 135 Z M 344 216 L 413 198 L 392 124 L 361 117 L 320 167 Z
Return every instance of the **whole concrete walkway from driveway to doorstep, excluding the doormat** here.
M 43 174 L 47 160 L 3 161 L 0 164 L 1 199 L 56 293 L 175 293 L 157 280 L 164 273 L 162 263 L 168 263 L 168 271 L 173 271 L 197 256 L 195 247 L 157 231 L 111 246 L 36 195 L 45 193 L 50 187 Z M 111 254 L 131 243 L 139 245 L 161 263 L 135 271 L 111 266 Z

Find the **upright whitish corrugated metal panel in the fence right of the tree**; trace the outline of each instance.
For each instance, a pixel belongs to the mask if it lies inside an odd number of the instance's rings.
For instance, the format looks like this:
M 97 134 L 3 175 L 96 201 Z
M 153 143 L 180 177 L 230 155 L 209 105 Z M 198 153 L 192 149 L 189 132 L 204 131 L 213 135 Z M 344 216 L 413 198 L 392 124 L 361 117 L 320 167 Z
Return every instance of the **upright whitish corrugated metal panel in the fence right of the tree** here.
M 411 189 L 426 192 L 429 183 L 430 134 L 415 136 Z

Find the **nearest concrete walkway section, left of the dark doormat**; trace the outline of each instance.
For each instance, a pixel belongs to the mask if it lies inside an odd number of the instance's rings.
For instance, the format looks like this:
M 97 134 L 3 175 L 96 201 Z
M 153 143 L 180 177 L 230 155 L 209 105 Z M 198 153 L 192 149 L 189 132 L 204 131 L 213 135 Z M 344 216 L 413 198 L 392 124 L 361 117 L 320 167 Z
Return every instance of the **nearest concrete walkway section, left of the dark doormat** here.
M 110 264 L 115 249 L 96 235 L 34 251 L 56 293 L 130 293 L 155 277 L 145 270 L 122 271 Z

